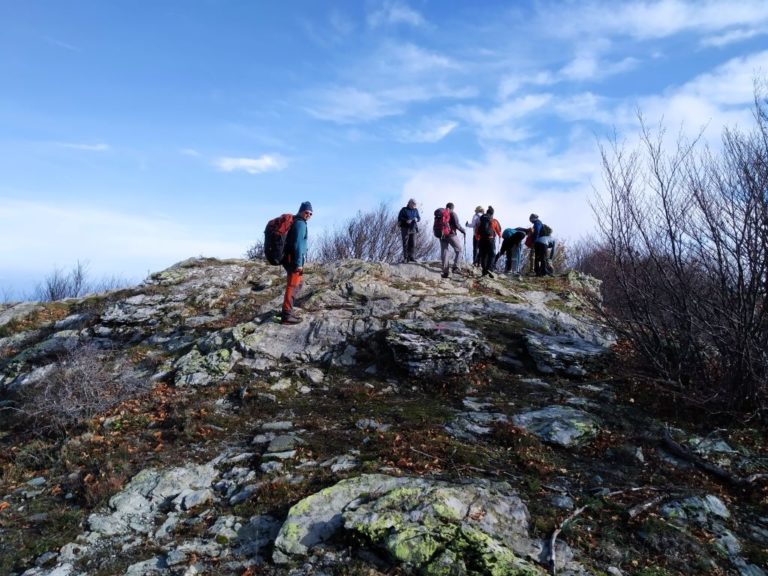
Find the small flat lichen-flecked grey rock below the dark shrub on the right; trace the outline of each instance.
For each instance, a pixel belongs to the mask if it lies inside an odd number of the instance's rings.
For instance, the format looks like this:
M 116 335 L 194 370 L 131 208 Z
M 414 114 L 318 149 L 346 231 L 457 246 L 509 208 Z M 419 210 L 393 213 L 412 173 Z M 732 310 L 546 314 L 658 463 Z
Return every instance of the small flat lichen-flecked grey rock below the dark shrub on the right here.
M 513 417 L 515 426 L 541 438 L 544 442 L 568 448 L 584 444 L 597 435 L 597 419 L 570 406 L 548 406 Z

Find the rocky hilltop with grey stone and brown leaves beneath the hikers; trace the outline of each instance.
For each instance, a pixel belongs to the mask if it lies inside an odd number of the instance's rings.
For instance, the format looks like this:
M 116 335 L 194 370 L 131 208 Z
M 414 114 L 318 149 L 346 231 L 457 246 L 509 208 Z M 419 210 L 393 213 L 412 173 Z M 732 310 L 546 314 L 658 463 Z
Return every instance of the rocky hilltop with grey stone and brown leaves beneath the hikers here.
M 656 393 L 594 279 L 341 261 L 284 326 L 284 276 L 0 307 L 0 572 L 766 575 L 764 431 Z

